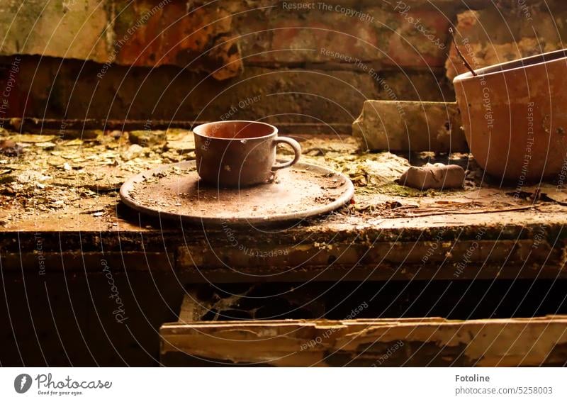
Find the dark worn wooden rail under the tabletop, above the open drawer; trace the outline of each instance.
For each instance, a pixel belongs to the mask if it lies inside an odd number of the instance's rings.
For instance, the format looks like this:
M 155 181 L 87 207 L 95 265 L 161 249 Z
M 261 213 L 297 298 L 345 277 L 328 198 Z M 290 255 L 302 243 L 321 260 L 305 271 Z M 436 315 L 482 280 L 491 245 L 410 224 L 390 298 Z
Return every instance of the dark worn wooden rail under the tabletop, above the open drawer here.
M 534 240 L 335 242 L 331 249 L 313 243 L 263 245 L 265 257 L 231 246 L 188 245 L 179 247 L 176 267 L 191 283 L 249 282 L 251 276 L 254 281 L 566 278 L 561 249 L 534 245 Z

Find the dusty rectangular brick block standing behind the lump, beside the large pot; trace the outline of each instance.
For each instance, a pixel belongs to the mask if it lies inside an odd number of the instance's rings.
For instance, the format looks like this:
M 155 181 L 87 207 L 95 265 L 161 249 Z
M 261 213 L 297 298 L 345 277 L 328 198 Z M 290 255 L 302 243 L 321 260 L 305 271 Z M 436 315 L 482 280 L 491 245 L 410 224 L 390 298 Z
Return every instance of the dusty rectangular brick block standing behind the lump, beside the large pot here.
M 468 151 L 455 102 L 365 101 L 352 135 L 362 150 Z

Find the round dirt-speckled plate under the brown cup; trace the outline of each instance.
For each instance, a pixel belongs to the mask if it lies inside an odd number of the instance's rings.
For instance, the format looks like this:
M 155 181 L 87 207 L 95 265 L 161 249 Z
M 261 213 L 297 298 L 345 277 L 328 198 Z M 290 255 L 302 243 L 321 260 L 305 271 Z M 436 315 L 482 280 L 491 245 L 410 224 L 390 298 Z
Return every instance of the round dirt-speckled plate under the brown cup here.
M 195 161 L 166 164 L 128 179 L 122 201 L 137 211 L 193 223 L 279 223 L 333 211 L 354 194 L 344 175 L 298 163 L 270 184 L 220 189 L 203 184 Z

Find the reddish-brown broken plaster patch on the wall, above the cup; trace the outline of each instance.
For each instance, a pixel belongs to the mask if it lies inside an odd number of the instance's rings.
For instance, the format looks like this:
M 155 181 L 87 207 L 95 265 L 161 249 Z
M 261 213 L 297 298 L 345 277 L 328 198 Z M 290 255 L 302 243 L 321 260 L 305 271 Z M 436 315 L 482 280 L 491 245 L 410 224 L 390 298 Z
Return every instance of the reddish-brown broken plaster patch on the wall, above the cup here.
M 232 35 L 232 16 L 208 7 L 186 11 L 182 3 L 170 3 L 150 12 L 155 5 L 137 3 L 124 21 L 116 24 L 121 65 L 158 67 L 177 65 L 208 72 L 215 79 L 236 77 L 242 58 Z M 127 21 L 126 21 L 127 20 Z

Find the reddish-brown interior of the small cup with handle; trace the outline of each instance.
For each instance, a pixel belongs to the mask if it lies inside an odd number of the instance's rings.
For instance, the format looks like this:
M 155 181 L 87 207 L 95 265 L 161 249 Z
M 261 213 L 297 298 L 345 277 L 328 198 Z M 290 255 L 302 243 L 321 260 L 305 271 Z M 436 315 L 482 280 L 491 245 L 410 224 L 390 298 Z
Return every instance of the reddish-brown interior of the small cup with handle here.
M 194 130 L 198 135 L 210 138 L 261 138 L 276 133 L 273 125 L 257 121 L 215 121 L 199 125 Z

